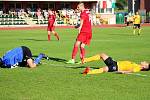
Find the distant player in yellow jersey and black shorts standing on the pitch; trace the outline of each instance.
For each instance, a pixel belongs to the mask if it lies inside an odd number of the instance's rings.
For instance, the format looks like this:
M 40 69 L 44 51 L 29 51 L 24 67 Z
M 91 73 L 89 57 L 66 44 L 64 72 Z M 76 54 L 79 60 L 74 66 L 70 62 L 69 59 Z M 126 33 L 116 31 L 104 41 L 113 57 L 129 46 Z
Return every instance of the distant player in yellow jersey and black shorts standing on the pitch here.
M 133 16 L 133 34 L 135 35 L 135 31 L 138 28 L 138 35 L 141 34 L 141 17 L 139 15 L 139 12 L 136 12 L 136 14 Z

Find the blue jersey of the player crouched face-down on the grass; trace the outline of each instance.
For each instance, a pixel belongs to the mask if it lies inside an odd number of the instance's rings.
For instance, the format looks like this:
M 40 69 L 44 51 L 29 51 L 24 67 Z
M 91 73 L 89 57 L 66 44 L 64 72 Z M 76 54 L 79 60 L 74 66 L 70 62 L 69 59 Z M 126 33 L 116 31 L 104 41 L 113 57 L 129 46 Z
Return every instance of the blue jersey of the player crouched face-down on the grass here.
M 18 63 L 21 63 L 22 61 L 23 61 L 23 50 L 21 47 L 9 50 L 2 57 L 2 62 L 4 66 L 8 68 L 12 68 L 13 66 L 18 65 Z

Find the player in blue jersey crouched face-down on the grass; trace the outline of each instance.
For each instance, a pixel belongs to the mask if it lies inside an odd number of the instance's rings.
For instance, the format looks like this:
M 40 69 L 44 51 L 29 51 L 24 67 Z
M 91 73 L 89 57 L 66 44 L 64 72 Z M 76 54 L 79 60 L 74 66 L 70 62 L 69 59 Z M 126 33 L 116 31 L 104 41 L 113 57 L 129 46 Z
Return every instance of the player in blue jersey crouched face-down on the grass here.
M 26 46 L 20 46 L 7 51 L 4 56 L 0 58 L 0 67 L 14 68 L 22 65 L 34 68 L 39 64 L 43 57 L 46 56 L 41 53 L 33 60 L 31 50 Z

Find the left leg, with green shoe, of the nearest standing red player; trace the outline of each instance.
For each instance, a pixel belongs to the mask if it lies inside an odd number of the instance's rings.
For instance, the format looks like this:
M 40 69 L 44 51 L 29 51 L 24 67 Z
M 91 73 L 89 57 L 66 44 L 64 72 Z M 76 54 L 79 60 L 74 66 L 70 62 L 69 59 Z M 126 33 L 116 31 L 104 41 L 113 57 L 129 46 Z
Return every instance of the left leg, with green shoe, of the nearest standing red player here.
M 81 44 L 80 41 L 76 41 L 75 44 L 74 44 L 74 47 L 73 47 L 73 50 L 72 50 L 72 59 L 69 60 L 67 63 L 69 64 L 74 64 L 75 63 L 75 57 L 78 53 L 78 47 L 79 45 Z

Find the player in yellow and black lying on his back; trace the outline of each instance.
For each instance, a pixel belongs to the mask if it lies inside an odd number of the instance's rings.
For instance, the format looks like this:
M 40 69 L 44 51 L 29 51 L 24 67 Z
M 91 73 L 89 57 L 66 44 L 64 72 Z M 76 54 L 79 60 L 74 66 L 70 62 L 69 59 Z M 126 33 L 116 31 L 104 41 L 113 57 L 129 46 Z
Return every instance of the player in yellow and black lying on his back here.
M 105 67 L 93 70 L 91 70 L 90 67 L 86 67 L 86 69 L 83 71 L 83 74 L 99 74 L 104 72 L 117 72 L 127 74 L 132 72 L 150 70 L 150 63 L 146 61 L 141 62 L 141 64 L 136 64 L 131 61 L 114 61 L 111 57 L 109 57 L 104 53 L 89 58 L 85 58 L 84 63 L 100 59 L 102 59 L 106 64 Z

